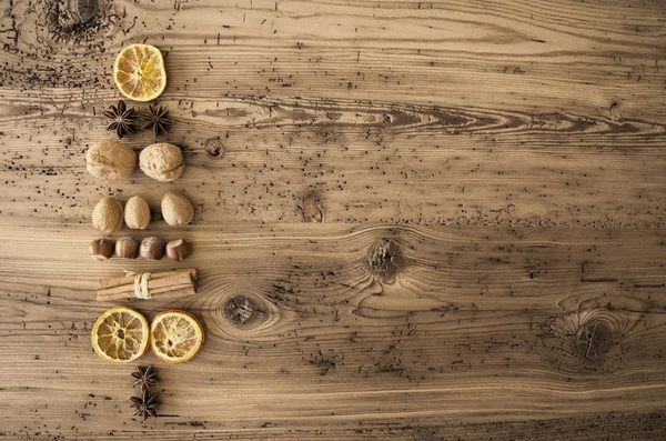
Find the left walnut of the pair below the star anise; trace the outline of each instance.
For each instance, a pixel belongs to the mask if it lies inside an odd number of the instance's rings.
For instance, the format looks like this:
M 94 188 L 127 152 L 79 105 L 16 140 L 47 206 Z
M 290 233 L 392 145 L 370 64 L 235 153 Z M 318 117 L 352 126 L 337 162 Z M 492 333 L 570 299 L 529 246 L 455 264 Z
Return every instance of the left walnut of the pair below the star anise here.
M 97 178 L 128 179 L 137 168 L 137 154 L 119 141 L 100 141 L 85 153 L 85 169 Z

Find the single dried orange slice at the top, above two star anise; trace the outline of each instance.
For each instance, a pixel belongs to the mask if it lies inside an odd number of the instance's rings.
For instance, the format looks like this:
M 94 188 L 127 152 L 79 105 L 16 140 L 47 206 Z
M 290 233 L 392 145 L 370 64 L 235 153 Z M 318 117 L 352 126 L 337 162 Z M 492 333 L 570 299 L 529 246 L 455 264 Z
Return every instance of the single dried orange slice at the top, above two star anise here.
M 152 101 L 167 87 L 162 52 L 150 44 L 130 44 L 113 63 L 113 80 L 124 97 L 134 101 Z

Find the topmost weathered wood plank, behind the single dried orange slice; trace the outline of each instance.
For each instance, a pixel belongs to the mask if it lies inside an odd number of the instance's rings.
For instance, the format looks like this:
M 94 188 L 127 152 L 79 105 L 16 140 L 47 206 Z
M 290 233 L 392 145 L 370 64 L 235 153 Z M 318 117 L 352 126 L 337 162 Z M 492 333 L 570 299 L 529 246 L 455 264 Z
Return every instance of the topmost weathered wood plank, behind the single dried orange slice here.
M 583 89 L 571 88 L 563 97 L 557 94 L 562 90 L 534 81 L 538 72 L 561 81 L 562 73 L 571 73 L 574 80 L 571 84 L 576 82 L 574 72 L 587 76 L 602 62 L 617 69 L 617 74 L 599 74 L 597 79 L 603 83 L 628 77 L 633 81 L 625 83 L 646 84 L 650 72 L 659 71 L 666 12 L 658 1 L 632 2 L 630 8 L 628 2 L 615 1 L 557 3 L 258 0 L 221 8 L 212 1 L 195 6 L 179 3 L 180 10 L 174 11 L 168 3 L 122 2 L 101 8 L 102 26 L 93 19 L 80 27 L 68 27 L 68 21 L 73 20 L 62 13 L 58 20 L 50 13 L 54 12 L 52 9 L 17 2 L 10 11 L 17 18 L 4 24 L 8 47 L 3 58 L 11 60 L 13 67 L 6 71 L 6 81 L 12 86 L 31 86 L 30 81 L 49 86 L 107 86 L 110 62 L 117 51 L 129 41 L 144 39 L 161 42 L 170 56 L 180 52 L 170 62 L 170 73 L 178 83 L 174 89 L 185 93 L 198 88 L 218 93 L 223 86 L 231 91 L 240 88 L 241 93 L 246 89 L 255 93 L 273 89 L 292 93 L 291 88 L 310 86 L 327 93 L 339 90 L 349 94 L 350 82 L 354 88 L 366 80 L 380 80 L 383 88 L 375 88 L 375 96 L 420 89 L 422 94 L 432 96 L 436 76 L 427 74 L 427 68 L 445 67 L 451 76 L 440 87 L 457 92 L 451 99 L 478 98 L 488 102 L 493 98 L 483 93 L 493 90 L 492 80 L 508 78 L 504 81 L 518 82 L 515 91 L 538 94 L 542 99 L 542 93 L 548 93 L 564 101 L 579 99 L 577 92 Z M 54 41 L 53 37 L 59 39 Z M 258 56 L 253 62 L 252 58 Z M 447 62 L 448 57 L 455 62 Z M 638 59 L 650 63 L 635 66 Z M 622 66 L 623 60 L 628 64 Z M 539 63 L 533 68 L 535 61 Z M 310 69 L 299 69 L 299 63 L 310 64 Z M 391 70 L 353 70 L 354 64 L 364 68 L 365 63 Z M 474 67 L 478 77 L 471 76 Z M 426 74 L 414 74 L 414 69 L 424 69 Z M 532 69 L 536 69 L 535 76 L 529 74 Z M 512 74 L 500 76 L 507 72 Z M 210 83 L 200 82 L 200 77 L 206 73 L 228 78 L 229 84 L 220 82 L 215 84 L 218 88 L 210 89 Z M 420 81 L 430 87 L 418 88 Z M 523 81 L 532 87 L 519 87 Z M 482 89 L 475 92 L 474 86 Z M 603 90 L 603 86 L 597 90 Z M 519 102 L 519 98 L 515 100 Z

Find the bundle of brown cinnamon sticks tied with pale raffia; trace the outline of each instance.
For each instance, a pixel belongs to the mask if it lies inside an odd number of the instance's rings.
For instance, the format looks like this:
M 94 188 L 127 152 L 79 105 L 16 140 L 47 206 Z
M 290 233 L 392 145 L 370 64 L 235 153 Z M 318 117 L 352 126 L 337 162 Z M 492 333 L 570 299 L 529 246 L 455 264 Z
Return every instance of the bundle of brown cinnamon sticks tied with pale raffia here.
M 139 299 L 180 299 L 196 293 L 196 270 L 144 272 L 99 279 L 98 302 Z

